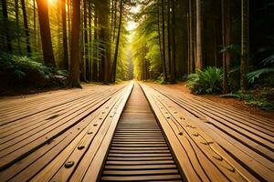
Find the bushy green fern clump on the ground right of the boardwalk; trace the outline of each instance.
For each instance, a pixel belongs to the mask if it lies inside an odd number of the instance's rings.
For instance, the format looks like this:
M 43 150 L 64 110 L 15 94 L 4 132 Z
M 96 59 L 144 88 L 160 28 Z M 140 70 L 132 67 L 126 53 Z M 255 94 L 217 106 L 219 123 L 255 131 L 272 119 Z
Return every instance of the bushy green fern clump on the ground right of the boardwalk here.
M 195 74 L 187 76 L 186 86 L 196 94 L 218 94 L 222 91 L 222 70 L 207 67 L 204 71 L 195 70 Z

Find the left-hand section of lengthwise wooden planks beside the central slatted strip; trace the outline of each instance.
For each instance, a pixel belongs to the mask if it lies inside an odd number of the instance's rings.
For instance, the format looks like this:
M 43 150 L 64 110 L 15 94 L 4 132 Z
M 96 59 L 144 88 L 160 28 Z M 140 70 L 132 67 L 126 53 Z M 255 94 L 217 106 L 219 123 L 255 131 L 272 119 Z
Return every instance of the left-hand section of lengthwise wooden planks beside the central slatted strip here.
M 98 177 L 131 91 L 132 83 L 1 101 L 0 181 Z

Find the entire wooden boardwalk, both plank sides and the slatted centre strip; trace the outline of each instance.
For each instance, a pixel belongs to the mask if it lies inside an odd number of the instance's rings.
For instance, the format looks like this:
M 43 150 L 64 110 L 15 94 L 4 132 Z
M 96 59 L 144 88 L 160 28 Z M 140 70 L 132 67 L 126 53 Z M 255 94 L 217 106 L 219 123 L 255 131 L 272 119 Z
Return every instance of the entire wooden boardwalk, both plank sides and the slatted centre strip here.
M 168 86 L 2 99 L 0 181 L 274 181 L 273 138 L 273 120 Z

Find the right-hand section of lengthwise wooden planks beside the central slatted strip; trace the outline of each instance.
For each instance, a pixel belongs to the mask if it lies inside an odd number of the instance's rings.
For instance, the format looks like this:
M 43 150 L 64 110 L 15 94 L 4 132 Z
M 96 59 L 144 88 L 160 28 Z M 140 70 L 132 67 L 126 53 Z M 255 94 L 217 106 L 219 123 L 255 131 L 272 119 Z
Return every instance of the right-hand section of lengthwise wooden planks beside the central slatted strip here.
M 189 181 L 273 181 L 273 120 L 142 84 Z

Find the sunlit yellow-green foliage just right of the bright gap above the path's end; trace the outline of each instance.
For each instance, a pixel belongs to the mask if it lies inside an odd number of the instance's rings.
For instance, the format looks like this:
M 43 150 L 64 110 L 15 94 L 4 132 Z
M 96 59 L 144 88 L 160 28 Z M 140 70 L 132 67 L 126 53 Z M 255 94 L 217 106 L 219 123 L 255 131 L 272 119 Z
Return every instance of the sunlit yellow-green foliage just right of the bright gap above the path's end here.
M 158 34 L 158 3 L 151 1 L 142 4 L 139 15 L 136 15 L 139 25 L 132 39 L 132 57 L 134 77 L 142 79 L 144 67 L 150 72 L 150 78 L 164 84 L 163 66 Z M 144 65 L 146 62 L 146 65 Z

